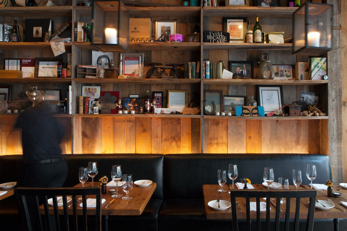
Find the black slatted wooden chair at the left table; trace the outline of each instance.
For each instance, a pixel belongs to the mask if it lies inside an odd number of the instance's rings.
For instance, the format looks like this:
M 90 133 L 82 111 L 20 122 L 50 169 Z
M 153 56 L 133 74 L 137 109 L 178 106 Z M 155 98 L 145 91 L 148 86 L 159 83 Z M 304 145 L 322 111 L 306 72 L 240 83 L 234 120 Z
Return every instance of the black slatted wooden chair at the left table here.
M 101 190 L 100 187 L 81 187 L 81 188 L 17 188 L 17 195 L 19 200 L 20 211 L 22 213 L 25 229 L 28 231 L 32 230 L 43 230 L 41 214 L 45 216 L 46 229 L 51 230 L 51 213 L 53 210 L 54 221 L 56 230 L 61 230 L 60 228 L 60 219 L 58 211 L 57 196 L 62 196 L 62 210 L 64 211 L 64 230 L 70 229 L 69 215 L 73 215 L 73 230 L 78 230 L 78 219 L 82 219 L 82 227 L 79 230 L 87 230 L 87 195 L 96 195 L 96 220 L 95 220 L 95 230 L 101 231 Z M 76 196 L 81 195 L 83 202 L 83 208 L 78 209 L 80 203 L 77 203 Z M 72 208 L 68 209 L 67 196 L 72 198 Z M 43 201 L 44 211 L 40 211 L 40 198 Z M 48 205 L 48 199 L 52 198 L 52 206 Z M 61 207 L 61 206 L 59 206 Z M 29 213 L 29 210 L 32 212 Z M 50 209 L 51 208 L 51 209 Z M 81 211 L 82 210 L 82 211 Z M 61 210 L 60 210 L 61 211 Z M 78 212 L 77 212 L 78 211 Z M 35 214 L 35 215 L 33 215 Z M 34 216 L 34 217 L 33 217 Z M 38 228 L 36 228 L 36 225 Z

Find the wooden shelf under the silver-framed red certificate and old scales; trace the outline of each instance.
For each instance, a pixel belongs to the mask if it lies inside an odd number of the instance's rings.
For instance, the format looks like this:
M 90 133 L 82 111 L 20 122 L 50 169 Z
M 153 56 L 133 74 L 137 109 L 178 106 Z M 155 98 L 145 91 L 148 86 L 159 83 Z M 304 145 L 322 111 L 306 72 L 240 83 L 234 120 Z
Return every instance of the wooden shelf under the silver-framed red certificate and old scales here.
M 200 83 L 201 79 L 85 79 L 74 78 L 75 82 L 80 83 L 125 83 L 125 84 L 191 84 Z

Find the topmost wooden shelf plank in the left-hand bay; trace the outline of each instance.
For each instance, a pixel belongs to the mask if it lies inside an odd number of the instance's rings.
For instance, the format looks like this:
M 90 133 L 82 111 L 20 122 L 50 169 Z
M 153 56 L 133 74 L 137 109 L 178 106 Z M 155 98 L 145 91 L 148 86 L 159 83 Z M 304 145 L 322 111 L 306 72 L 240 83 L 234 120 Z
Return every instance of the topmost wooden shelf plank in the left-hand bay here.
M 2 16 L 68 16 L 71 17 L 71 6 L 52 6 L 52 7 L 0 7 L 0 15 Z M 58 29 L 58 28 L 57 28 Z

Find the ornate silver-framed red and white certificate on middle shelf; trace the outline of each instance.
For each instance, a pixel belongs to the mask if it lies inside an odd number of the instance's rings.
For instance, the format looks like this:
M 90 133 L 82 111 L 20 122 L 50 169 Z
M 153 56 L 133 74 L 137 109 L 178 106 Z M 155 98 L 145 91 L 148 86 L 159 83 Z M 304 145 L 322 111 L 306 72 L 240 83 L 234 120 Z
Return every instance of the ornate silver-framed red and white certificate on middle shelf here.
M 135 76 L 137 68 L 143 66 L 143 53 L 120 53 L 119 74 Z

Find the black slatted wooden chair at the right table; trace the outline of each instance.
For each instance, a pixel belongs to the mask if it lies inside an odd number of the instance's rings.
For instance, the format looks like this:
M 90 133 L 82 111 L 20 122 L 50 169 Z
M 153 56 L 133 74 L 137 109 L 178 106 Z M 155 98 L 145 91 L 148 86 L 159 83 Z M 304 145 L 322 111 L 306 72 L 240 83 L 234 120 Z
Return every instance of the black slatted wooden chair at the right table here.
M 231 213 L 232 213 L 232 230 L 238 231 L 237 213 L 239 211 L 236 209 L 236 197 L 246 198 L 246 225 L 247 231 L 251 230 L 251 212 L 249 207 L 249 198 L 256 198 L 256 223 L 257 230 L 260 231 L 260 199 L 266 197 L 266 231 L 270 231 L 270 198 L 277 198 L 276 200 L 276 217 L 275 217 L 275 230 L 280 230 L 280 200 L 282 197 L 286 199 L 286 210 L 285 212 L 285 230 L 289 231 L 289 215 L 290 215 L 290 198 L 296 198 L 296 208 L 295 208 L 295 219 L 294 219 L 294 230 L 297 231 L 299 228 L 299 213 L 300 213 L 300 199 L 302 197 L 310 198 L 310 205 L 308 206 L 306 231 L 313 230 L 313 220 L 314 220 L 314 209 L 315 201 L 317 196 L 317 190 L 307 189 L 307 190 L 254 190 L 254 189 L 231 189 Z M 261 199 L 263 200 L 263 199 Z M 244 201 L 244 200 L 243 200 Z M 240 204 L 240 200 L 239 200 Z M 303 206 L 303 205 L 301 205 Z M 282 213 L 283 213 L 282 212 Z

